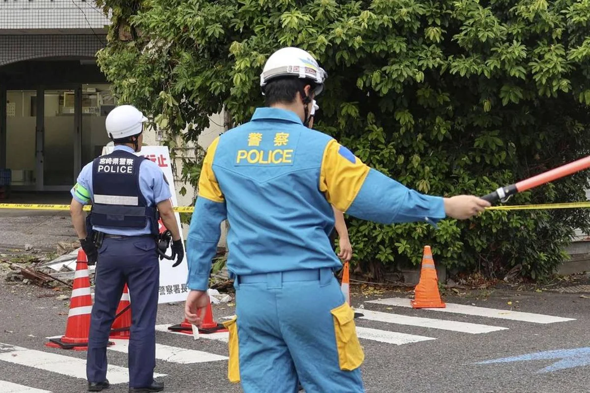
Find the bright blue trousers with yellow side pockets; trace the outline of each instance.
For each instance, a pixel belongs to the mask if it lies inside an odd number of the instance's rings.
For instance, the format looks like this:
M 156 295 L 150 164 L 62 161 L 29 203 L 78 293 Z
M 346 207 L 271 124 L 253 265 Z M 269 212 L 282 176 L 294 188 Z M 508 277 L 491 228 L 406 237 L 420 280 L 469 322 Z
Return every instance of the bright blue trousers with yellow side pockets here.
M 245 393 L 296 393 L 298 381 L 306 393 L 364 392 L 354 312 L 332 270 L 240 276 L 234 286 L 228 377 L 237 352 Z

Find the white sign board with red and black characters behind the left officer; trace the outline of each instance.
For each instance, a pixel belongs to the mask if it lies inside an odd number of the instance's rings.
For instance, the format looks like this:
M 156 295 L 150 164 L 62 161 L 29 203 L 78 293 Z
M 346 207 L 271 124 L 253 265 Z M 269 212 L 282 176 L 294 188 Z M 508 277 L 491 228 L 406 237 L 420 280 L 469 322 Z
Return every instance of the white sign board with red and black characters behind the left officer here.
M 112 151 L 113 146 L 103 147 L 103 155 L 112 153 Z M 160 169 L 162 169 L 164 176 L 166 176 L 166 179 L 168 180 L 168 187 L 170 187 L 170 193 L 172 194 L 172 206 L 178 206 L 168 146 L 142 146 L 142 150 L 140 150 L 139 153 L 135 153 L 135 155 L 148 157 L 150 160 L 158 164 Z M 180 229 L 182 239 L 181 216 L 178 213 L 174 213 L 174 215 L 176 217 L 176 223 L 178 223 L 178 228 Z M 166 255 L 171 254 L 171 248 L 169 247 L 168 250 L 166 250 Z M 186 288 L 186 278 L 188 276 L 186 250 L 182 263 L 176 267 L 172 267 L 175 262 L 176 259 L 160 260 L 160 296 L 158 303 L 183 302 L 186 300 L 186 295 L 188 295 L 189 291 L 188 288 Z

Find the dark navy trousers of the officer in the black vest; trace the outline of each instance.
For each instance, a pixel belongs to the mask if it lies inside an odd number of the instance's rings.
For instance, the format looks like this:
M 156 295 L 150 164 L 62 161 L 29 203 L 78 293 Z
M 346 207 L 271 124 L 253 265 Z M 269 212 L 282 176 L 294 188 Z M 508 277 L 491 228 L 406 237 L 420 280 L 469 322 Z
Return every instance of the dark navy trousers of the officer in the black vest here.
M 127 283 L 131 299 L 129 387 L 149 387 L 156 366 L 156 313 L 160 266 L 153 237 L 106 237 L 99 249 L 86 355 L 89 382 L 107 374 L 107 343 Z

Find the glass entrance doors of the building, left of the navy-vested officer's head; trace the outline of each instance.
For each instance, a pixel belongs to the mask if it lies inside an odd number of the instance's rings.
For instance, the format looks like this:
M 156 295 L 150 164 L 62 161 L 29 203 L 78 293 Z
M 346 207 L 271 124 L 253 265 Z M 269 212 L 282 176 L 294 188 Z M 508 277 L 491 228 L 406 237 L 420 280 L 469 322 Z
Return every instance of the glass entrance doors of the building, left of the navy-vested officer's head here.
M 6 147 L 0 161 L 5 159 L 6 168 L 12 170 L 12 186 L 70 190 L 82 167 L 109 143 L 104 121 L 116 104 L 110 85 L 38 86 L 5 94 L 0 110 L 6 121 Z

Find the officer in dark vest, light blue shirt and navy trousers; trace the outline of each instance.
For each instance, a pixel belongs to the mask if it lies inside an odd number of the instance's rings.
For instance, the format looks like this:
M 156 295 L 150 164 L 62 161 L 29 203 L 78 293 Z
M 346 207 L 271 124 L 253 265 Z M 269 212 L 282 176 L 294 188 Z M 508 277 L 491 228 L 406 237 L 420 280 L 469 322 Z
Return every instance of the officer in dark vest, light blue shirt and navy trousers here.
M 86 358 L 91 392 L 109 388 L 107 344 L 125 284 L 132 315 L 129 392 L 158 392 L 164 388 L 153 379 L 160 276 L 156 251 L 159 218 L 172 233 L 174 266 L 182 262 L 184 250 L 168 180 L 156 163 L 133 154 L 141 149 L 143 123 L 147 120 L 132 105 L 114 108 L 106 118 L 113 152 L 84 166 L 71 190 L 74 229 L 89 263 L 97 262 Z M 89 225 L 83 212 L 85 204 L 92 204 Z

